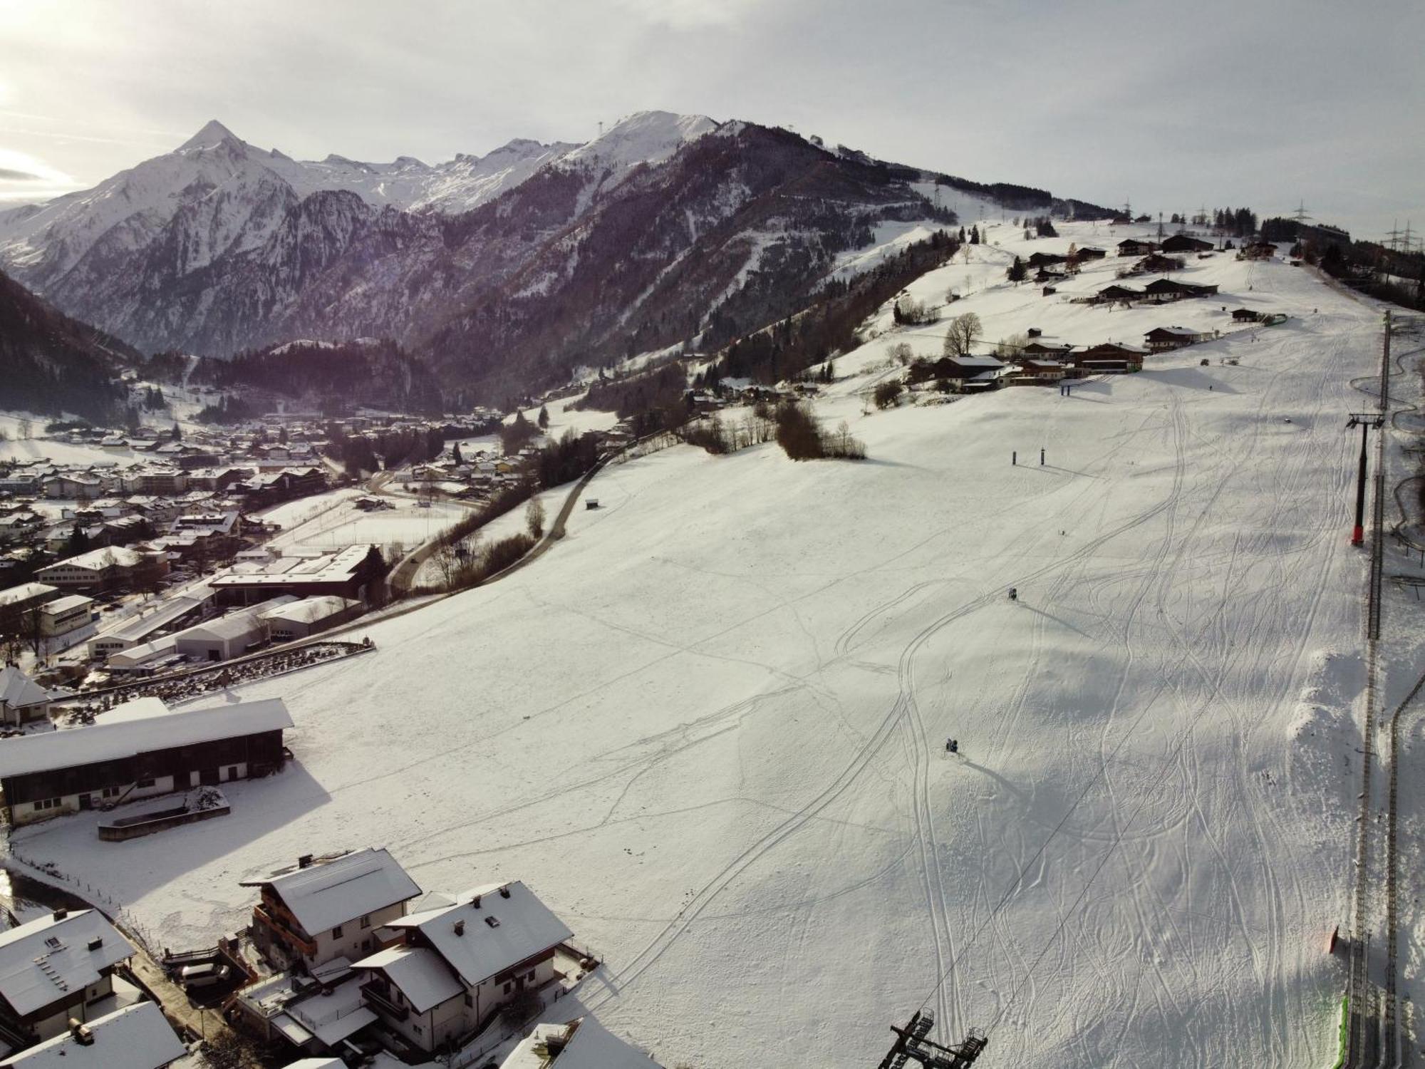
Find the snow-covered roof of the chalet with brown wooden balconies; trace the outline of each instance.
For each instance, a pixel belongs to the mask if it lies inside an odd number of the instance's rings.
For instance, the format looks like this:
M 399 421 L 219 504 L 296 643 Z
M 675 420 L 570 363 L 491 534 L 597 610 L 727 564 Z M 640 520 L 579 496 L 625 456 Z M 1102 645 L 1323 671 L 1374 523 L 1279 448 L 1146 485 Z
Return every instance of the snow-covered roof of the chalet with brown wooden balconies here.
M 262 882 L 282 899 L 308 935 L 420 894 L 416 881 L 385 848 L 370 847 Z

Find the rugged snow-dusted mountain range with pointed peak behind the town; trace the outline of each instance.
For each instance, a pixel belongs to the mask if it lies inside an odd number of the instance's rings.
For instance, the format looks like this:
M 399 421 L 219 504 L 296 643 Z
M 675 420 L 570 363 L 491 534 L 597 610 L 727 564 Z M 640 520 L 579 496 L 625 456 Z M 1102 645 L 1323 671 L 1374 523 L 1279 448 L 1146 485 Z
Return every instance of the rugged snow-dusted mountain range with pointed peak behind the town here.
M 439 165 L 296 161 L 209 123 L 93 190 L 0 214 L 0 267 L 142 349 L 385 336 L 449 383 L 510 388 L 789 315 L 881 224 L 953 222 L 936 181 L 1052 204 L 663 111 Z

